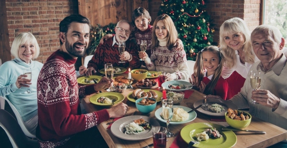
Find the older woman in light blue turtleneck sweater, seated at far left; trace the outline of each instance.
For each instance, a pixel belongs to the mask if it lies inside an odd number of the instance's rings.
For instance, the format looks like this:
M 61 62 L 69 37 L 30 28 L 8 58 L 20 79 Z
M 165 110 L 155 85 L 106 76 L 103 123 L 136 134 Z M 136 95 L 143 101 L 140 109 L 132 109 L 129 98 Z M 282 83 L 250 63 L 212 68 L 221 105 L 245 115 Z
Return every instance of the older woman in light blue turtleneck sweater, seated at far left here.
M 38 123 L 37 79 L 43 64 L 33 61 L 40 48 L 32 33 L 17 35 L 11 46 L 15 59 L 0 67 L 0 96 L 6 96 L 20 113 L 27 129 L 35 134 Z M 24 68 L 31 68 L 32 80 L 26 79 Z M 31 93 L 26 94 L 28 87 Z

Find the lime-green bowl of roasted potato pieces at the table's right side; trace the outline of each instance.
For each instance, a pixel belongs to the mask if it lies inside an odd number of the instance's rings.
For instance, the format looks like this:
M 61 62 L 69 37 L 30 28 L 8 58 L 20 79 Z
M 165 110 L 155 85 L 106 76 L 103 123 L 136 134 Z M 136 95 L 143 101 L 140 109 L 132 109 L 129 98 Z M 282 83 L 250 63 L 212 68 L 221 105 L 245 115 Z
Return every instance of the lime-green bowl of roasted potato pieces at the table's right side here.
M 231 127 L 236 129 L 244 129 L 249 126 L 251 122 L 251 115 L 245 111 L 232 110 L 228 108 L 225 113 L 225 120 Z

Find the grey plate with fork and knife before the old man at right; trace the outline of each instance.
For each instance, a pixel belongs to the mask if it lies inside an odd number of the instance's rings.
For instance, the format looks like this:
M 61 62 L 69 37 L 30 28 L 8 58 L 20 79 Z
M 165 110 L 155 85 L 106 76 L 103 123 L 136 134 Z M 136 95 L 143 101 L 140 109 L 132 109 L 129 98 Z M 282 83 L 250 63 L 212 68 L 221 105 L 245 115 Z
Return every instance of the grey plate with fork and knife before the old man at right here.
M 197 107 L 199 106 L 200 104 L 204 103 L 203 100 L 198 100 L 196 102 L 193 103 L 193 107 Z M 197 111 L 203 113 L 203 114 L 206 114 L 206 115 L 211 115 L 211 116 L 224 116 L 225 115 L 225 112 L 227 112 L 227 109 L 228 108 L 231 108 L 232 110 L 237 110 L 237 106 L 231 102 L 231 101 L 227 101 L 227 100 L 222 100 L 222 99 L 218 99 L 218 98 L 208 98 L 206 99 L 206 103 L 208 103 L 208 105 L 211 105 L 211 104 L 219 104 L 219 105 L 222 105 L 224 107 L 224 110 L 222 112 L 219 112 L 219 113 L 214 113 L 212 112 L 211 110 L 204 110 L 203 108 L 198 108 Z

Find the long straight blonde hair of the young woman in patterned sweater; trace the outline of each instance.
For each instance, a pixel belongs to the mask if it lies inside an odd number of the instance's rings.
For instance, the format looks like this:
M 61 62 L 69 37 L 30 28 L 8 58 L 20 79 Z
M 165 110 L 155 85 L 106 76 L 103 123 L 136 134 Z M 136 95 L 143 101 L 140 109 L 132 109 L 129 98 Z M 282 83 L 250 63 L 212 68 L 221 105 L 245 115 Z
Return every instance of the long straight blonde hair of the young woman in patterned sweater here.
M 178 33 L 177 29 L 174 26 L 174 23 L 170 16 L 163 14 L 158 16 L 155 21 L 154 21 L 154 26 L 152 28 L 152 48 L 156 48 L 159 46 L 159 41 L 158 38 L 156 37 L 156 24 L 158 21 L 162 20 L 167 31 L 168 35 L 166 36 L 167 38 L 167 44 L 166 47 L 171 50 L 173 48 L 173 44 L 177 41 Z

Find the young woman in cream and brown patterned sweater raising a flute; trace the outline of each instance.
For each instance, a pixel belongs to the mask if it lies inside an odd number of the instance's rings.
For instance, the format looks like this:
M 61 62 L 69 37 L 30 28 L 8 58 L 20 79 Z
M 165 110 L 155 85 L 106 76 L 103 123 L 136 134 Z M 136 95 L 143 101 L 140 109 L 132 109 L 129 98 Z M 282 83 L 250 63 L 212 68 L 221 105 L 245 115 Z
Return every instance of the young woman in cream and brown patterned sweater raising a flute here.
M 172 19 L 160 15 L 154 21 L 152 30 L 152 54 L 149 58 L 144 52 L 139 53 L 145 59 L 148 70 L 166 72 L 166 81 L 185 80 L 189 77 L 189 68 L 184 50 L 176 50 L 174 43 L 177 40 L 177 30 Z

